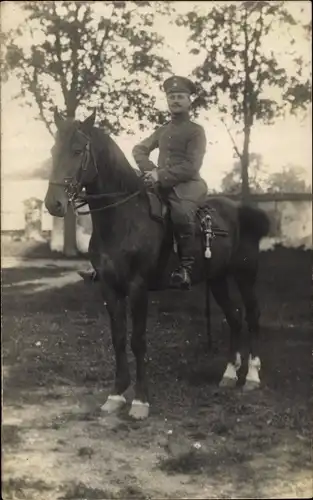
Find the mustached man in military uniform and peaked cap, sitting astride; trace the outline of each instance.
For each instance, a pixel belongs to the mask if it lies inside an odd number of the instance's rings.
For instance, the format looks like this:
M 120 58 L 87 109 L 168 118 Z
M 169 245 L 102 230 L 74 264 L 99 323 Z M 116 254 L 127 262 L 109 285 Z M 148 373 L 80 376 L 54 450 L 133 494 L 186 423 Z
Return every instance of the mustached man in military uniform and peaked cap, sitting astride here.
M 134 159 L 148 185 L 156 186 L 170 206 L 178 245 L 180 266 L 171 276 L 171 286 L 189 289 L 194 264 L 196 212 L 205 200 L 207 185 L 200 177 L 206 150 L 203 127 L 190 120 L 191 96 L 196 88 L 181 76 L 168 78 L 166 93 L 171 120 L 133 148 Z M 158 148 L 158 166 L 149 159 Z

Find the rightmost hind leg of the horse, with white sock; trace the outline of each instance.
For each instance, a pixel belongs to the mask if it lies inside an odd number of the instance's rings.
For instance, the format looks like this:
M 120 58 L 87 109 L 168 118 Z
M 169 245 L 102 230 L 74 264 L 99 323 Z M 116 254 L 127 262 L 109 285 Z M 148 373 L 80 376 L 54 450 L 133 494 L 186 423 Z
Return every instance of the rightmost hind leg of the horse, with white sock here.
M 234 276 L 246 309 L 246 321 L 249 331 L 249 361 L 244 389 L 251 390 L 258 388 L 261 383 L 259 376 L 261 369 L 259 356 L 260 309 L 255 293 L 257 264 L 244 272 L 235 273 Z

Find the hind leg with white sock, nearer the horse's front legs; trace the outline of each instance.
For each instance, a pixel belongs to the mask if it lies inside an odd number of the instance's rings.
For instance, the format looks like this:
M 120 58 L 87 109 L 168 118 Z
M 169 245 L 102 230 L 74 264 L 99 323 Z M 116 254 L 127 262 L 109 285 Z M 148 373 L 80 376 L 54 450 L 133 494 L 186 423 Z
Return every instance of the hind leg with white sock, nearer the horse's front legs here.
M 234 387 L 237 383 L 237 371 L 241 366 L 240 340 L 242 322 L 241 316 L 230 298 L 227 276 L 211 280 L 212 294 L 225 314 L 230 328 L 230 345 L 226 370 L 224 371 L 220 387 Z

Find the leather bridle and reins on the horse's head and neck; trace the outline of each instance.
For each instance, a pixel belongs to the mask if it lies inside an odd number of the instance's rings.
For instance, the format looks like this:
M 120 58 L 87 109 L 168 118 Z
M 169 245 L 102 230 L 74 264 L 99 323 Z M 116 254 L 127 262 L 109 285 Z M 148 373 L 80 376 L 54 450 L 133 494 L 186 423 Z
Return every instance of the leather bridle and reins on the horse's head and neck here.
M 128 194 L 125 192 L 118 192 L 118 193 L 103 193 L 103 194 L 95 194 L 95 195 L 87 195 L 87 194 L 82 194 L 82 187 L 83 187 L 83 177 L 84 173 L 88 171 L 88 166 L 90 165 L 90 161 L 93 163 L 93 167 L 95 170 L 95 177 L 98 176 L 99 171 L 97 167 L 97 161 L 96 157 L 94 154 L 94 151 L 92 149 L 91 145 L 91 139 L 88 137 L 82 130 L 77 130 L 77 132 L 87 139 L 87 143 L 85 145 L 84 151 L 83 151 L 83 159 L 81 162 L 81 165 L 79 167 L 79 170 L 77 172 L 76 178 L 74 176 L 72 177 L 65 177 L 64 182 L 56 182 L 56 181 L 50 181 L 49 184 L 55 185 L 55 186 L 62 186 L 64 188 L 64 191 L 66 193 L 66 196 L 68 198 L 69 203 L 71 204 L 73 210 L 75 213 L 78 215 L 88 215 L 93 212 L 101 212 L 104 210 L 108 210 L 110 208 L 117 207 L 119 205 L 122 205 L 129 201 L 130 199 L 134 198 L 135 196 L 138 196 L 140 194 L 140 191 L 136 191 L 134 193 Z M 111 203 L 110 205 L 105 205 L 104 207 L 100 208 L 94 208 L 92 210 L 88 211 L 78 211 L 79 208 L 84 207 L 85 205 L 88 205 L 89 200 L 101 200 L 104 198 L 116 198 L 119 196 L 126 196 L 124 199 L 119 200 L 117 202 Z

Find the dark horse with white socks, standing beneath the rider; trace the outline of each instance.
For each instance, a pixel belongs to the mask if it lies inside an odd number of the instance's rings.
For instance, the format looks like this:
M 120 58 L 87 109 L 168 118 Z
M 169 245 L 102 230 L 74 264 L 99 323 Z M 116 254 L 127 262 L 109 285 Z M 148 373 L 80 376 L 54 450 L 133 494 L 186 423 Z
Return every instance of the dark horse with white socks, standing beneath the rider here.
M 167 215 L 156 217 L 157 197 L 151 203 L 143 179 L 137 175 L 116 143 L 94 126 L 95 112 L 84 122 L 64 120 L 55 111 L 57 135 L 52 148 L 53 169 L 45 205 L 49 213 L 64 217 L 68 203 L 84 199 L 89 205 L 93 232 L 89 258 L 99 277 L 102 296 L 110 316 L 116 357 L 114 387 L 102 409 L 118 410 L 130 385 L 126 356 L 126 305 L 132 317 L 131 348 L 136 358 L 135 399 L 130 415 L 137 419 L 149 413 L 146 374 L 146 321 L 148 292 L 164 288 L 157 280 L 173 255 L 173 236 Z M 206 309 L 210 340 L 210 290 L 223 310 L 230 327 L 230 348 L 221 385 L 234 386 L 241 365 L 241 315 L 230 298 L 227 277 L 239 287 L 249 330 L 248 373 L 244 387 L 260 384 L 258 348 L 259 307 L 255 295 L 259 242 L 269 230 L 268 218 L 257 208 L 243 206 L 227 198 L 208 198 L 215 226 L 224 235 L 211 241 L 211 258 L 205 258 L 205 245 L 198 227 L 194 283 L 207 283 Z M 164 209 L 164 206 L 163 206 Z M 215 215 L 214 215 L 215 214 Z M 216 231 L 218 234 L 218 231 Z M 198 271 L 197 271 L 198 270 Z M 166 283 L 166 282 L 165 282 Z M 178 292 L 188 293 L 188 292 Z

